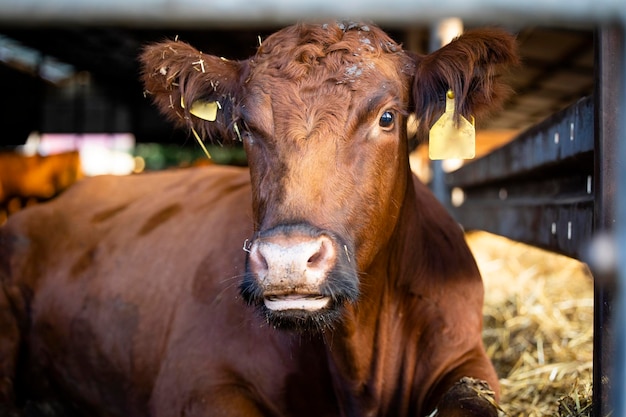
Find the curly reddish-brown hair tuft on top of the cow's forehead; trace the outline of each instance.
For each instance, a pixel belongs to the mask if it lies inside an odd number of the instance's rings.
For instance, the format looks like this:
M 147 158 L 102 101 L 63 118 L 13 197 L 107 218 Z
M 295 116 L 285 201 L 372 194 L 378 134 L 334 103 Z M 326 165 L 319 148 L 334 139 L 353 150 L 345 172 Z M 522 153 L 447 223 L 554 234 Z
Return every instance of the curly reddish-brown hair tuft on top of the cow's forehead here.
M 365 66 L 372 68 L 371 59 L 400 52 L 402 47 L 375 25 L 299 23 L 268 37 L 253 58 L 253 65 L 281 77 L 300 79 L 323 63 L 329 78 L 341 81 L 358 75 Z

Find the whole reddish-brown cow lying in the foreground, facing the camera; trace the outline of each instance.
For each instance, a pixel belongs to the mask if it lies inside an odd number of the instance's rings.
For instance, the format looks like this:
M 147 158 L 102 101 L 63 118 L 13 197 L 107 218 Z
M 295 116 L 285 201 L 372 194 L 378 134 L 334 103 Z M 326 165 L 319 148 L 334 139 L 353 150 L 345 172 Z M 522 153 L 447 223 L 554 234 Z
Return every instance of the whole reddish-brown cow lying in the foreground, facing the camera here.
M 148 47 L 161 110 L 240 138 L 250 169 L 93 178 L 13 216 L 0 398 L 101 416 L 495 416 L 481 278 L 409 170 L 405 121 L 431 123 L 448 88 L 460 114 L 489 110 L 516 60 L 495 29 L 414 56 L 347 23 L 286 28 L 241 62 Z M 190 113 L 202 102 L 217 120 Z

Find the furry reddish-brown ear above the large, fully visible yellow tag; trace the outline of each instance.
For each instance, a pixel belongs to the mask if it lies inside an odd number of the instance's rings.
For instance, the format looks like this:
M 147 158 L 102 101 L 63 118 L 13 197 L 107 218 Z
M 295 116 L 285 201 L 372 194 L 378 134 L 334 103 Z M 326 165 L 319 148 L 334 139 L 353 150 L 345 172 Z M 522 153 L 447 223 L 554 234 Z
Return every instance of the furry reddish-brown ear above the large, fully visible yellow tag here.
M 456 115 L 480 117 L 499 108 L 510 93 L 500 75 L 519 64 L 515 38 L 497 28 L 468 31 L 414 59 L 413 103 L 423 128 L 443 113 L 448 90 L 455 95 Z

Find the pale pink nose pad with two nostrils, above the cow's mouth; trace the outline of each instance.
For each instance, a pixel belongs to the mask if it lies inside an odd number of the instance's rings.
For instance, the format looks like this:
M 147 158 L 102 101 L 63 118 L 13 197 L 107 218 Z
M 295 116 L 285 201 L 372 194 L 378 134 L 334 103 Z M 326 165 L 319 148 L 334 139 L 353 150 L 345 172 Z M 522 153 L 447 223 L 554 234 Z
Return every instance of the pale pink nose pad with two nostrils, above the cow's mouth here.
M 335 245 L 325 235 L 257 239 L 250 248 L 250 272 L 262 287 L 277 292 L 315 292 L 336 263 Z

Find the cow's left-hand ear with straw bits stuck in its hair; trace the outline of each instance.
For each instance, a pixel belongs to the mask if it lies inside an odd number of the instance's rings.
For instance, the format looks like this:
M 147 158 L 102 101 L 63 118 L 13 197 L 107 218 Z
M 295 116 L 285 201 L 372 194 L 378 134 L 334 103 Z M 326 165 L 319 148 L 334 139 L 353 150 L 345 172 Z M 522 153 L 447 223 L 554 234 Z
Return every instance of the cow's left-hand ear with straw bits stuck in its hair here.
M 234 108 L 246 62 L 203 54 L 179 41 L 147 46 L 140 55 L 145 94 L 178 126 L 202 138 L 235 137 Z

